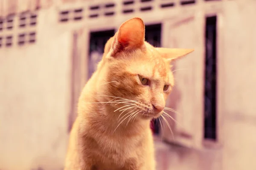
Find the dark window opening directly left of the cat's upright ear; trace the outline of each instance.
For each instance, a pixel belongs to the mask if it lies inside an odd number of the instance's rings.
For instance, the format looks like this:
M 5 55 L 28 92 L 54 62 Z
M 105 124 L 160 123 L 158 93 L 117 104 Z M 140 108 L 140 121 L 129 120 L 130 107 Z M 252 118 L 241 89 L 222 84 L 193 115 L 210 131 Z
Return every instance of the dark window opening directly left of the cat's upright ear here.
M 90 33 L 88 78 L 90 78 L 93 72 L 96 70 L 97 63 L 99 63 L 99 61 L 101 61 L 102 59 L 105 44 L 107 43 L 109 38 L 114 36 L 114 34 L 115 34 L 114 29 Z

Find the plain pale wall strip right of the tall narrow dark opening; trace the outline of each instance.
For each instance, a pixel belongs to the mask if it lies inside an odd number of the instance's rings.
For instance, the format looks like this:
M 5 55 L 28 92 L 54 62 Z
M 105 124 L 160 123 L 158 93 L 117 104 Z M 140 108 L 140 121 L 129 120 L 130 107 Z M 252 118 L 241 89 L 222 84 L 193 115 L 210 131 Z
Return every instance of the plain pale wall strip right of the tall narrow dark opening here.
M 256 169 L 256 1 L 225 6 L 220 58 L 223 170 Z

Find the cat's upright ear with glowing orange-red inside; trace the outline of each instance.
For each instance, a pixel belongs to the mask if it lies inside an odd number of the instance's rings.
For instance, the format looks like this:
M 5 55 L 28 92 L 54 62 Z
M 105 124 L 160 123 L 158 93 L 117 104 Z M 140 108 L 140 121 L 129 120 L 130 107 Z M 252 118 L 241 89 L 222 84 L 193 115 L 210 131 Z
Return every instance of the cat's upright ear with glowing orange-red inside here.
M 125 21 L 116 32 L 112 48 L 113 53 L 121 52 L 123 49 L 142 48 L 145 41 L 145 25 L 142 19 L 132 18 Z

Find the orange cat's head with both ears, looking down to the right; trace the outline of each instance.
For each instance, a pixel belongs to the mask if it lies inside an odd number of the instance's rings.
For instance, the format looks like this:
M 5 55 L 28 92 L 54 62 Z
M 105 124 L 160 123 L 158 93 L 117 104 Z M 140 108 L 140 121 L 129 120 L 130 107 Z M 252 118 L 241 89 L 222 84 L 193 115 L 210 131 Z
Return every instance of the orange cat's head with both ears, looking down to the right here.
M 174 86 L 170 62 L 192 51 L 155 48 L 145 42 L 143 20 L 123 23 L 106 43 L 101 63 L 105 76 L 102 93 L 116 97 L 109 97 L 116 109 L 122 107 L 114 114 L 124 111 L 141 118 L 159 117 Z

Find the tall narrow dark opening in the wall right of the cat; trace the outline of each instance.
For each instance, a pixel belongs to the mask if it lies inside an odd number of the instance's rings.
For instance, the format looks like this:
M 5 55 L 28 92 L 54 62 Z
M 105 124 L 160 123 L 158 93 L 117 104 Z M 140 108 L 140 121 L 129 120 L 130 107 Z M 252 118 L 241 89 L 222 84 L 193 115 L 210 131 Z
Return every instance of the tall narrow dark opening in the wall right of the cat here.
M 216 139 L 217 60 L 216 60 L 217 17 L 206 18 L 205 30 L 205 85 L 204 85 L 204 138 Z

